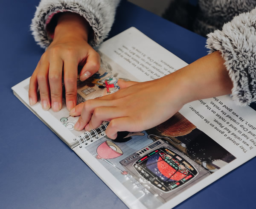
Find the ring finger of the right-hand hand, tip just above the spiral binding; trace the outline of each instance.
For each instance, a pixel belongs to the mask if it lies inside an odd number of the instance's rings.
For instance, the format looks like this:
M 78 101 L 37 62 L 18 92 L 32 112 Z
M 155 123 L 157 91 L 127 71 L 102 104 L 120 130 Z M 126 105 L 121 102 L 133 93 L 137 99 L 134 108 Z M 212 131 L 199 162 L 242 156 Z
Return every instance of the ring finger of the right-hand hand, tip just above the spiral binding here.
M 117 107 L 97 107 L 84 129 L 87 131 L 95 129 L 99 127 L 103 121 L 111 121 L 114 118 L 119 118 L 123 113 L 124 112 Z

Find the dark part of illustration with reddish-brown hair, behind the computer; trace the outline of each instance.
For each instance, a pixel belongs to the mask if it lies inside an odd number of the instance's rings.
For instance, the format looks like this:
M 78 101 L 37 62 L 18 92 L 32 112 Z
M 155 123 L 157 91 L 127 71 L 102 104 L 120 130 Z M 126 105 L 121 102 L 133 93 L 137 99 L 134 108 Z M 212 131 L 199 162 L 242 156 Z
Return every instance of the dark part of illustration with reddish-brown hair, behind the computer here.
M 176 113 L 157 127 L 147 130 L 147 133 L 153 134 L 149 136 L 154 139 L 169 142 L 179 152 L 211 173 L 236 159 L 180 113 Z

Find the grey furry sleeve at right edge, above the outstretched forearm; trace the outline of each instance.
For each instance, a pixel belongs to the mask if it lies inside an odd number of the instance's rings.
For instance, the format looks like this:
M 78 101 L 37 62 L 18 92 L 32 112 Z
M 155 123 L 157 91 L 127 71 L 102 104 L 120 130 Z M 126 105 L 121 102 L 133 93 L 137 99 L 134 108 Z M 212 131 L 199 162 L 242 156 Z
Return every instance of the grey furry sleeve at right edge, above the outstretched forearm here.
M 232 99 L 241 106 L 256 102 L 256 8 L 207 36 L 209 52 L 218 50 L 225 60 Z

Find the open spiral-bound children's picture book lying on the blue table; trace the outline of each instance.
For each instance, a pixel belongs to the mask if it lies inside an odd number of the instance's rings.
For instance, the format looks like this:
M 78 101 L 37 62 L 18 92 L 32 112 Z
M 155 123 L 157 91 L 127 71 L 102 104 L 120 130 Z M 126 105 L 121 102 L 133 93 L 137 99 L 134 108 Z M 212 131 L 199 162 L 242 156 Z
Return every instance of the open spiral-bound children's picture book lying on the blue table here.
M 148 81 L 187 65 L 136 28 L 96 50 L 101 68 L 78 82 L 77 103 L 117 91 L 119 78 Z M 29 78 L 12 90 L 130 208 L 172 208 L 256 155 L 256 111 L 229 96 L 191 102 L 157 127 L 111 140 L 108 122 L 74 130 L 78 117 L 69 116 L 64 99 L 58 113 L 30 106 L 28 85 Z

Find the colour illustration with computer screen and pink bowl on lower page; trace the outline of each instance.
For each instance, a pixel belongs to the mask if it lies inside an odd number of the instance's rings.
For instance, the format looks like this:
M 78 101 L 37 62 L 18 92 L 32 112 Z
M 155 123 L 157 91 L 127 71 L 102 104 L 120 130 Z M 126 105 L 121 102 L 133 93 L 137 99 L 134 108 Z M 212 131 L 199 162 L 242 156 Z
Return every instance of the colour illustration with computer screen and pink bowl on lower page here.
M 180 113 L 142 134 L 127 134 L 125 142 L 104 137 L 85 149 L 147 208 L 166 203 L 236 159 Z

